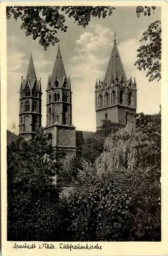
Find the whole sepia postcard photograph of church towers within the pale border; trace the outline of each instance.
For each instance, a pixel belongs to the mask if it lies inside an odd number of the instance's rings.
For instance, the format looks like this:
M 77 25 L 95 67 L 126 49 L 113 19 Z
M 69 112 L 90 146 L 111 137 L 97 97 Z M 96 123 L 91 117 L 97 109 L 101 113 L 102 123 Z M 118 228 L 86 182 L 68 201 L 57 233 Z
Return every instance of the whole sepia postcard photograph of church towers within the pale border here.
M 15 253 L 162 241 L 163 7 L 110 3 L 6 6 Z

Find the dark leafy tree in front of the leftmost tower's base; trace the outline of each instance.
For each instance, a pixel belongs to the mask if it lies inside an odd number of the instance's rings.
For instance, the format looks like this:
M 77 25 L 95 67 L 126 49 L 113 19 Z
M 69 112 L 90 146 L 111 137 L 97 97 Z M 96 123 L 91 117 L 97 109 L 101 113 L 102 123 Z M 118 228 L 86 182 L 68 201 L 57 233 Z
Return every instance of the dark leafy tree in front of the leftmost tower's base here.
M 44 134 L 40 129 L 32 140 L 27 142 L 19 138 L 9 145 L 7 150 L 9 179 L 14 175 L 12 181 L 17 185 L 35 185 L 39 182 L 43 184 L 44 181 L 51 184 L 55 174 L 61 172 L 63 157 L 57 148 L 52 147 L 51 137 L 51 134 Z

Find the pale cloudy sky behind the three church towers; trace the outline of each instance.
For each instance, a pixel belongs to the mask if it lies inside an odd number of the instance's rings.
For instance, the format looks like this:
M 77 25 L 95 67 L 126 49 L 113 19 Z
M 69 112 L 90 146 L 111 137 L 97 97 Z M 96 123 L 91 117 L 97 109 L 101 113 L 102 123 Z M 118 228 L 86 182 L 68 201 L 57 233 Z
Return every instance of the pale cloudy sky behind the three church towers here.
M 161 82 L 149 82 L 145 71 L 134 66 L 136 50 L 142 45 L 143 32 L 156 19 L 161 19 L 161 9 L 151 16 L 137 18 L 135 7 L 116 7 L 111 16 L 94 17 L 89 26 L 82 28 L 66 19 L 67 32 L 58 31 L 60 50 L 66 70 L 71 78 L 72 123 L 76 130 L 96 131 L 95 82 L 103 80 L 114 44 L 114 32 L 127 79 L 136 78 L 137 113 L 155 114 L 161 103 Z M 21 76 L 25 78 L 32 52 L 37 79 L 42 82 L 42 126 L 46 125 L 46 88 L 52 73 L 58 45 L 47 51 L 39 45 L 39 39 L 25 36 L 21 21 L 7 20 L 7 129 L 12 131 L 19 121 L 19 90 Z

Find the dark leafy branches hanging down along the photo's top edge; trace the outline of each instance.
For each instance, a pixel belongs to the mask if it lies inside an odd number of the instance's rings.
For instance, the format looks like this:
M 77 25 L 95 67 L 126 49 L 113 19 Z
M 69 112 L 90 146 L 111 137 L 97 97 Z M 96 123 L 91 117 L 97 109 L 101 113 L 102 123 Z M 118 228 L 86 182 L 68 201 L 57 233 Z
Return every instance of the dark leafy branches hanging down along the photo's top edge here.
M 142 8 L 137 7 L 137 17 L 141 14 Z M 153 9 L 155 7 L 152 7 Z M 55 43 L 59 42 L 56 36 L 57 31 L 66 32 L 68 27 L 65 25 L 66 16 L 72 17 L 74 23 L 85 28 L 89 25 L 91 17 L 103 17 L 111 15 L 115 7 L 112 6 L 36 6 L 36 7 L 7 7 L 7 18 L 13 16 L 14 19 L 21 19 L 20 28 L 25 30 L 26 36 L 33 35 L 33 39 L 40 37 L 39 44 L 44 47 L 44 50 Z M 151 8 L 147 7 L 148 15 L 151 13 Z M 145 15 L 145 11 L 144 11 Z

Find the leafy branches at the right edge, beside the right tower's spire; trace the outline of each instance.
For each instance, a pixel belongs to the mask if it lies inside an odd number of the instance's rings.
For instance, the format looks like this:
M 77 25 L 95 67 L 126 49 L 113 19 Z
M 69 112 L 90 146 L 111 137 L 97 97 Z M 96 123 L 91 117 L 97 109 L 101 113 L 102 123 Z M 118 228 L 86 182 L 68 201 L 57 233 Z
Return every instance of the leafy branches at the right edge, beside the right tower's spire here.
M 137 49 L 137 60 L 134 63 L 138 70 L 148 70 L 149 81 L 161 78 L 161 22 L 156 20 L 143 33 L 141 41 L 146 44 Z

